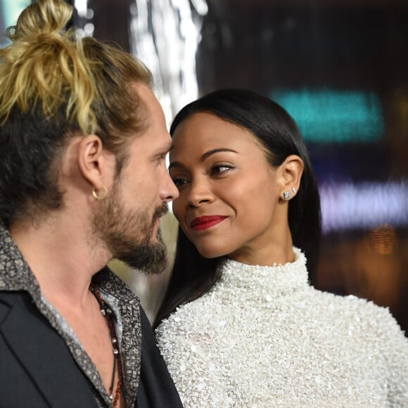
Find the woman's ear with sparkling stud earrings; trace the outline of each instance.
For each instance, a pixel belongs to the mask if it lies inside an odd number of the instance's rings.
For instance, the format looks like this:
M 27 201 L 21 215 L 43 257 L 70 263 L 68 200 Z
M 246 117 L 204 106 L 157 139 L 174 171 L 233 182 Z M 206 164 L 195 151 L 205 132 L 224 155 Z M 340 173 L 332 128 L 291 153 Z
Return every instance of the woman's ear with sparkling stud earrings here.
M 280 198 L 290 200 L 299 191 L 300 179 L 305 165 L 298 155 L 289 155 L 277 170 Z

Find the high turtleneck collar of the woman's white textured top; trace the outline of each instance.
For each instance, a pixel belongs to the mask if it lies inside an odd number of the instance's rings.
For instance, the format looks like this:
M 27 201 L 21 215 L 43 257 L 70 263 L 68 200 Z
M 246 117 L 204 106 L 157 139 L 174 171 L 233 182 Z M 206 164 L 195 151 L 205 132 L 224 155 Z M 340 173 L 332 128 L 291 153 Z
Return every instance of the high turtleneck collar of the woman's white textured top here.
M 229 288 L 279 293 L 294 291 L 308 286 L 305 255 L 293 247 L 295 260 L 274 266 L 248 265 L 236 260 L 225 259 L 219 283 Z

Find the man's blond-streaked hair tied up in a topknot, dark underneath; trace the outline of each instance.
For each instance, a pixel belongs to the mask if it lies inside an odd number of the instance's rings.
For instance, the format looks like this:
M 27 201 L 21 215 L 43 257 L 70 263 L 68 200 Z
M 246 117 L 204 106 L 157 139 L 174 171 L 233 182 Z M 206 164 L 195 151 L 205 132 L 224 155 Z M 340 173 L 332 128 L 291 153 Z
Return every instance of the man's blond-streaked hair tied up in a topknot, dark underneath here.
M 141 61 L 65 30 L 72 6 L 39 0 L 21 13 L 0 49 L 0 217 L 59 208 L 58 158 L 73 135 L 97 134 L 117 172 L 146 108 L 132 83 L 152 87 Z M 34 206 L 32 204 L 35 204 Z

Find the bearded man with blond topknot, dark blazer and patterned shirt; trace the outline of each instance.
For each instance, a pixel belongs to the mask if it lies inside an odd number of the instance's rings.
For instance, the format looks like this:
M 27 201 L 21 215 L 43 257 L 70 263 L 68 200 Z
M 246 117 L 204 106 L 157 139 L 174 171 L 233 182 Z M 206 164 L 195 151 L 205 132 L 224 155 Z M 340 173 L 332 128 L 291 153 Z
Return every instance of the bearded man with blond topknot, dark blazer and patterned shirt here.
M 139 299 L 177 189 L 151 73 L 39 0 L 0 50 L 0 405 L 181 407 Z M 141 345 L 143 341 L 143 347 Z

